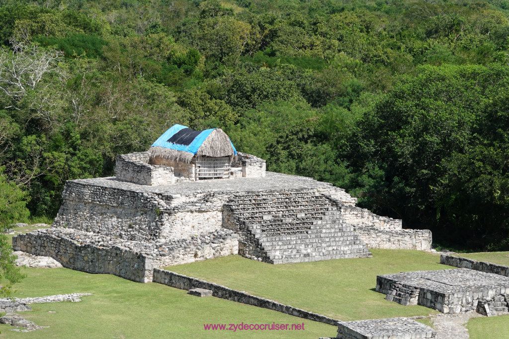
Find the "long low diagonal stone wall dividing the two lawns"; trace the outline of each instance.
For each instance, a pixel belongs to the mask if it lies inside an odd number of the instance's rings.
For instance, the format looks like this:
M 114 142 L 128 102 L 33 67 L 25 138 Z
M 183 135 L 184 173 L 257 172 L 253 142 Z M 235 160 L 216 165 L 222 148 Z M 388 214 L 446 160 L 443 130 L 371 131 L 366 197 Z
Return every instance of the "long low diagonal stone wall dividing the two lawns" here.
M 154 269 L 154 283 L 163 284 L 166 286 L 175 287 L 181 290 L 191 290 L 194 288 L 203 288 L 211 290 L 212 295 L 217 298 L 227 299 L 231 301 L 241 302 L 248 305 L 262 307 L 295 317 L 300 317 L 308 320 L 318 321 L 324 324 L 336 325 L 337 320 L 332 318 L 298 309 L 290 305 L 285 305 L 277 301 L 265 299 L 248 294 L 243 291 L 232 290 L 218 284 L 209 283 L 201 279 L 191 278 L 190 276 L 178 274 L 175 272 L 167 271 L 164 269 Z

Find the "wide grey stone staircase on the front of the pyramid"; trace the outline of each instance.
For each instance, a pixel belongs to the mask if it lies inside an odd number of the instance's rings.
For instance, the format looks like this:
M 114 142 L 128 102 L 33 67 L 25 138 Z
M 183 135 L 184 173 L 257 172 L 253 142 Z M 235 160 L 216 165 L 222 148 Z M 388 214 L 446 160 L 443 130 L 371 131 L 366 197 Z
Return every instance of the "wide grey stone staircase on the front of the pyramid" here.
M 372 256 L 337 207 L 313 191 L 236 195 L 225 208 L 266 262 Z

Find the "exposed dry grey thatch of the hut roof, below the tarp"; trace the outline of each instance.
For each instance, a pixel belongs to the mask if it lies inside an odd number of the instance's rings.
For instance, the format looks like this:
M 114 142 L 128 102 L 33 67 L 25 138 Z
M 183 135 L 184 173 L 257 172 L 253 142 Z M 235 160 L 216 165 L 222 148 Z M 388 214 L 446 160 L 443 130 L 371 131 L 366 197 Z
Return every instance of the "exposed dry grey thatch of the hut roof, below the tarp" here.
M 150 147 L 149 152 L 151 153 L 151 157 L 159 157 L 184 163 L 190 163 L 194 157 L 197 159 L 202 157 L 229 157 L 231 161 L 237 158 L 237 151 L 233 147 L 230 138 L 223 130 L 216 128 L 211 132 L 210 130 L 202 132 L 208 132 L 210 134 L 205 138 L 205 140 L 203 140 L 201 145 L 199 145 L 195 153 L 192 153 L 192 151 L 189 150 L 174 149 L 182 148 L 177 147 L 181 146 L 179 144 L 165 143 L 168 147 L 157 145 Z

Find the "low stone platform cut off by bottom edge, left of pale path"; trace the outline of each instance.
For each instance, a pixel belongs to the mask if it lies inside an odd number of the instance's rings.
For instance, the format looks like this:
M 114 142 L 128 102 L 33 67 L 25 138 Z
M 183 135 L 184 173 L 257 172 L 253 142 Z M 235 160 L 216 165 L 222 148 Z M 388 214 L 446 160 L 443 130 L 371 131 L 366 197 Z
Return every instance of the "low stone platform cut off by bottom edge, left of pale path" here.
M 436 335 L 431 327 L 409 318 L 340 321 L 337 327 L 337 338 L 342 339 L 414 339 Z

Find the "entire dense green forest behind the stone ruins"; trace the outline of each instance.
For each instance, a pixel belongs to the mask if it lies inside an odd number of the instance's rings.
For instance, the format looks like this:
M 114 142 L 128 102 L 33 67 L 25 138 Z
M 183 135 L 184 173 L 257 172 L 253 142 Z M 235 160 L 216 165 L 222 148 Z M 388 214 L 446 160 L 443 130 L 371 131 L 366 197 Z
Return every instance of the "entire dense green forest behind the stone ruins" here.
M 0 0 L 0 224 L 173 124 L 509 250 L 509 1 Z

